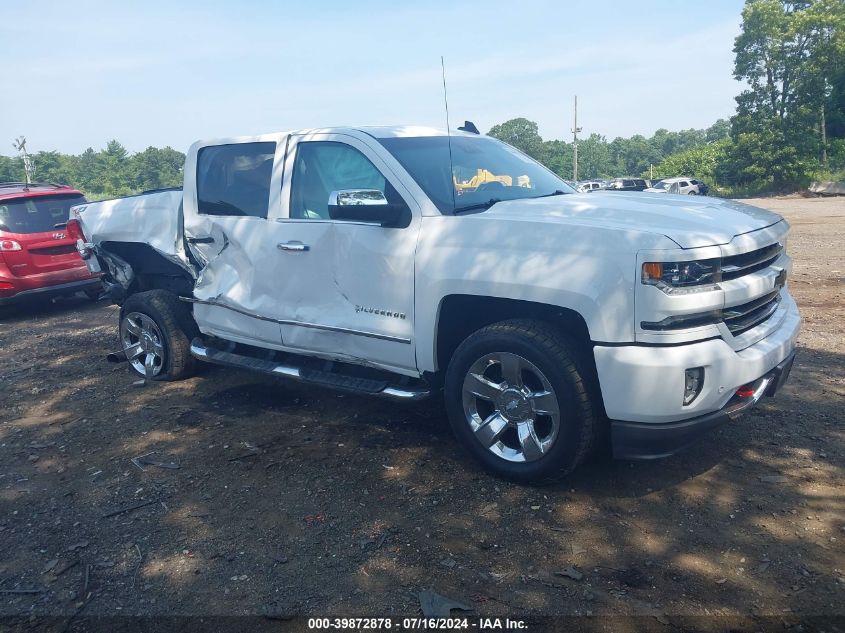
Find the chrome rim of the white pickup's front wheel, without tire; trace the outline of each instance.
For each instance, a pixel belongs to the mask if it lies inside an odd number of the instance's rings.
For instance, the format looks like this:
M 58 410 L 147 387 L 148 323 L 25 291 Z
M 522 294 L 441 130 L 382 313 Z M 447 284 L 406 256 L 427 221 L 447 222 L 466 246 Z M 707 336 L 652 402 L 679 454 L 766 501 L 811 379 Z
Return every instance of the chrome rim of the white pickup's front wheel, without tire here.
M 560 430 L 560 406 L 548 378 L 509 352 L 473 363 L 464 378 L 463 407 L 475 438 L 509 462 L 540 459 Z

